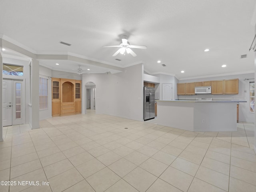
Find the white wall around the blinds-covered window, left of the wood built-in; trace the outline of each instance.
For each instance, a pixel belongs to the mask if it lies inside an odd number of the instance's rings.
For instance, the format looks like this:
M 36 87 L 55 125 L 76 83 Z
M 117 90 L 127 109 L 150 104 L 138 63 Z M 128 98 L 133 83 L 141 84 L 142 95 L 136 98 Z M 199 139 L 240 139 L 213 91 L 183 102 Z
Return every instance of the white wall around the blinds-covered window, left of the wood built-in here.
M 39 120 L 44 120 L 52 117 L 52 70 L 44 66 L 39 66 L 39 75 L 48 78 L 48 109 L 39 110 Z

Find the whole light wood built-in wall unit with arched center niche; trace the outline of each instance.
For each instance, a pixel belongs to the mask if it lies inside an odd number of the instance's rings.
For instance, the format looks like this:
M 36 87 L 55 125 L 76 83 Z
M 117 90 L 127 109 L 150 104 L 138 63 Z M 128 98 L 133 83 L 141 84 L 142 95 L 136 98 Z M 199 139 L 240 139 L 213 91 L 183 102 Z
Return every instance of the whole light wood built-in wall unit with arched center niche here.
M 81 113 L 81 81 L 52 78 L 52 116 L 79 113 Z

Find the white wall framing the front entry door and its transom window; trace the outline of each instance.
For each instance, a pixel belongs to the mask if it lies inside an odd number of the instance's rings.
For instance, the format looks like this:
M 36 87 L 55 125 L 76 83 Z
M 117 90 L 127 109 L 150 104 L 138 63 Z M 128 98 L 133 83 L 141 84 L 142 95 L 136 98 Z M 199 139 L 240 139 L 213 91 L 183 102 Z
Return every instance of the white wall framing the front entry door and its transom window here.
M 14 58 L 3 58 L 3 63 L 14 64 L 23 66 L 23 76 L 13 76 L 13 75 L 3 75 L 3 78 L 10 79 L 24 79 L 25 80 L 25 123 L 28 124 L 30 122 L 30 61 L 28 60 L 20 60 Z

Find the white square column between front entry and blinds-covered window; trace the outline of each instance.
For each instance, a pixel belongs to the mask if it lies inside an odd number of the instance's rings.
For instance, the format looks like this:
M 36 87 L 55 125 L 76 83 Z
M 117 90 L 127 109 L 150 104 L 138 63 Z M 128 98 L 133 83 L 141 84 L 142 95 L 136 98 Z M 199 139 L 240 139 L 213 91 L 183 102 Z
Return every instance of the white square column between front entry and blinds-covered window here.
M 31 61 L 31 129 L 39 128 L 39 61 Z

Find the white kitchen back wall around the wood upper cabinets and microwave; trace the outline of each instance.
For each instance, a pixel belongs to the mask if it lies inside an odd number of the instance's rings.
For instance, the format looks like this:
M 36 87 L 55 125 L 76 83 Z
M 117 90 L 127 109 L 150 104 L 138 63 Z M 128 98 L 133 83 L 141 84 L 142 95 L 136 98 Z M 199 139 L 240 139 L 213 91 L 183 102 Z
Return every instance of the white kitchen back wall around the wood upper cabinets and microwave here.
M 253 73 L 249 74 L 239 74 L 239 75 L 229 75 L 229 76 L 218 76 L 218 77 L 211 77 L 211 78 L 199 78 L 199 79 L 190 79 L 190 80 L 181 80 L 179 83 L 184 82 L 200 82 L 200 81 L 211 81 L 211 80 L 226 80 L 226 79 L 236 79 L 238 78 L 238 94 L 221 94 L 221 95 L 212 95 L 212 94 L 195 94 L 195 95 L 180 95 L 178 96 L 179 99 L 184 98 L 197 98 L 197 97 L 204 97 L 204 98 L 213 98 L 213 99 L 236 99 L 236 100 L 246 100 L 246 103 L 239 104 L 239 121 L 244 122 L 255 122 L 255 114 L 250 113 L 249 105 L 250 105 L 250 89 L 249 89 L 249 82 L 254 81 L 252 80 L 245 80 L 254 78 Z M 246 92 L 245 92 L 246 91 Z

